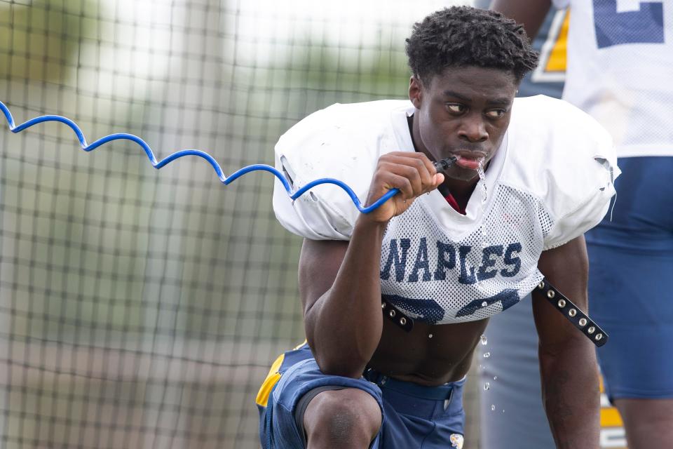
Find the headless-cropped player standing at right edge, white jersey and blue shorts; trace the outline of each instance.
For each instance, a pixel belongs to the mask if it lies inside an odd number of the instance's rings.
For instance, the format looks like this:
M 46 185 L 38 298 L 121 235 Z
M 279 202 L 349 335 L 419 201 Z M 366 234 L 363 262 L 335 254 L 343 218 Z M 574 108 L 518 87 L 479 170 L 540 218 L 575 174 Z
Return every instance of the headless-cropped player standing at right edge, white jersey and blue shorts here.
M 623 175 L 612 215 L 587 233 L 598 351 L 630 449 L 673 441 L 673 4 L 555 0 L 571 7 L 564 99 L 613 135 Z M 496 0 L 534 36 L 550 0 Z M 571 132 L 571 130 L 569 130 Z

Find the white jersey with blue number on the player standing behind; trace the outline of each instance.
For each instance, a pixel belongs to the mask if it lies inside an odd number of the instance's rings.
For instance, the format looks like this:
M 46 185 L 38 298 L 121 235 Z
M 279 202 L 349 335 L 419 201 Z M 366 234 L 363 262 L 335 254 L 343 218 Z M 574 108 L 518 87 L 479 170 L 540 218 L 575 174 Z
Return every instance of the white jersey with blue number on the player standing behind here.
M 570 6 L 563 98 L 613 136 L 619 157 L 673 156 L 673 1 Z

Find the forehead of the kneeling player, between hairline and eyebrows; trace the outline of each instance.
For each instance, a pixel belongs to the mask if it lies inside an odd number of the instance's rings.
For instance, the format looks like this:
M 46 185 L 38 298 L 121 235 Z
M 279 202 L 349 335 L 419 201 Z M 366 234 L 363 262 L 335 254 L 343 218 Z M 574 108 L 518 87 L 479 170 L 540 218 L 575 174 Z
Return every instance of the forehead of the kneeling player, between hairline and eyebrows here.
M 512 100 L 519 86 L 512 72 L 475 66 L 447 67 L 432 76 L 428 84 L 426 90 L 432 95 L 450 93 L 470 100 Z

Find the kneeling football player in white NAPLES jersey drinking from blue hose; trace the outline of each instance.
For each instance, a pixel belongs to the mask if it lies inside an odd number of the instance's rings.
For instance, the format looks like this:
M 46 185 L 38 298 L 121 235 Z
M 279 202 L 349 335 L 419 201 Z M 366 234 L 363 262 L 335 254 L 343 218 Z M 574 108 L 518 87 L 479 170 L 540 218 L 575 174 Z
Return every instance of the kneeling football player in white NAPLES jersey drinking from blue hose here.
M 461 448 L 463 383 L 489 317 L 543 277 L 587 307 L 583 233 L 618 173 L 609 135 L 561 100 L 514 100 L 537 55 L 498 13 L 437 11 L 407 55 L 411 101 L 333 105 L 276 145 L 295 189 L 336 177 L 365 204 L 400 194 L 361 214 L 337 187 L 291 201 L 276 182 L 278 220 L 304 236 L 308 344 L 259 391 L 264 448 Z M 592 343 L 538 289 L 533 312 L 555 441 L 596 449 Z

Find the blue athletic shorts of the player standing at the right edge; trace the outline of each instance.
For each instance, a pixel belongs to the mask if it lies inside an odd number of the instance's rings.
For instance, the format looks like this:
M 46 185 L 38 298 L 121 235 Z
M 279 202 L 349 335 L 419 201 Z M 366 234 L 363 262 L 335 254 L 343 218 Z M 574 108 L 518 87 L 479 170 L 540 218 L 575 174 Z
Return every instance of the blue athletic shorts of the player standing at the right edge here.
M 597 355 L 610 398 L 673 398 L 673 157 L 618 165 L 612 221 L 586 234 Z

